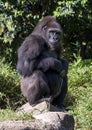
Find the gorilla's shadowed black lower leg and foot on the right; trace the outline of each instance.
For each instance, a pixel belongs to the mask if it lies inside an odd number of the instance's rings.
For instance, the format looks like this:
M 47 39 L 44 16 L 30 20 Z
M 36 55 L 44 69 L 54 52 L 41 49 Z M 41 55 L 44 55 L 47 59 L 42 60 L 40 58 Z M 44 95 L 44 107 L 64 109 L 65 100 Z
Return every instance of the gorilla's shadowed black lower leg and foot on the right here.
M 63 107 L 63 101 L 64 101 L 64 98 L 66 96 L 66 93 L 67 93 L 67 90 L 68 90 L 68 86 L 67 86 L 67 76 L 63 78 L 63 83 L 62 83 L 62 87 L 61 87 L 61 92 L 59 94 L 59 96 L 57 96 L 52 104 L 55 105 L 55 106 L 58 106 L 60 108 Z

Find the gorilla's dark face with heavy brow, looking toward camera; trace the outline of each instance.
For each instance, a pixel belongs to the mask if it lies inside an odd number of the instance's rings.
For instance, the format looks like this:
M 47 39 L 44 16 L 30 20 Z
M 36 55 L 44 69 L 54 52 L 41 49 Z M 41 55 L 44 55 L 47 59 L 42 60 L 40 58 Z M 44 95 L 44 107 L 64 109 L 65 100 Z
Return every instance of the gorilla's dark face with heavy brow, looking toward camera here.
M 57 22 L 49 22 L 43 27 L 43 36 L 50 50 L 60 47 L 61 28 Z

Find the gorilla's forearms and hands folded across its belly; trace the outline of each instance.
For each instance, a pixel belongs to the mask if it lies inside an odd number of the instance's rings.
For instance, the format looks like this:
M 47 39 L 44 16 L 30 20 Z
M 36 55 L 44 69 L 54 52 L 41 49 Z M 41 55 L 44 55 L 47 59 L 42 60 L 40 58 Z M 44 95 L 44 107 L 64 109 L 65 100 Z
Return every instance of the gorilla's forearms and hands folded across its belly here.
M 64 59 L 47 57 L 39 62 L 38 69 L 41 69 L 43 72 L 46 72 L 48 69 L 52 69 L 58 72 L 61 77 L 65 77 L 68 73 L 68 62 Z

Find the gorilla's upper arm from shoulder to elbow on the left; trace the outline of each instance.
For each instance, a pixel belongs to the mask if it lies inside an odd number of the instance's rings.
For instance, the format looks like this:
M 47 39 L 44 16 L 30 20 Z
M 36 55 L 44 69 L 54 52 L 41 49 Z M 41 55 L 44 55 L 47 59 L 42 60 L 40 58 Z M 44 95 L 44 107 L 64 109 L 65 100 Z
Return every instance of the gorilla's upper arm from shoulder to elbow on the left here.
M 36 67 L 36 58 L 44 50 L 45 42 L 37 36 L 27 37 L 18 49 L 17 70 L 20 75 L 30 76 Z

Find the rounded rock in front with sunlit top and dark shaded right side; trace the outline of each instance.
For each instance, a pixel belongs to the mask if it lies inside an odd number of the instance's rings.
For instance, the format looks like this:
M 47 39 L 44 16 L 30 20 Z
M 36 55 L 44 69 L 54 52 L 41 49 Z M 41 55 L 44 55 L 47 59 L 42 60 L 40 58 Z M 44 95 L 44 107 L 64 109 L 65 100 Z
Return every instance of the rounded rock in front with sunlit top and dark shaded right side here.
M 64 112 L 46 112 L 34 116 L 53 127 L 53 130 L 74 130 L 74 118 Z

